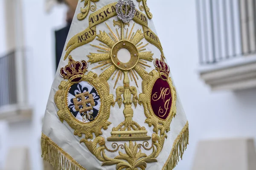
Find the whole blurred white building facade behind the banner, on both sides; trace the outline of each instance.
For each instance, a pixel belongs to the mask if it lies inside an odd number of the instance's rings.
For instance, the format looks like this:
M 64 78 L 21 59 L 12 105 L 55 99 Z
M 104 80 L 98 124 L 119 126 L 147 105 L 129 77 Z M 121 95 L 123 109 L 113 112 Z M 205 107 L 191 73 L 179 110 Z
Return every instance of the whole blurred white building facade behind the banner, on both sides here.
M 190 123 L 189 146 L 175 170 L 192 169 L 197 144 L 201 140 L 256 139 L 256 89 L 250 82 L 249 85 L 241 85 L 244 75 L 247 76 L 245 80 L 253 81 L 255 78 L 254 65 L 246 70 L 247 64 L 254 61 L 253 51 L 256 49 L 253 45 L 255 8 L 251 8 L 255 0 L 223 1 L 147 1 Z M 6 2 L 10 7 L 6 7 Z M 20 101 L 31 113 L 20 121 L 24 116 L 20 118 L 13 115 L 10 107 L 5 107 L 9 112 L 1 107 L 0 112 L 5 114 L 0 115 L 0 169 L 4 168 L 11 148 L 26 147 L 29 149 L 31 170 L 43 170 L 40 137 L 55 74 L 54 31 L 66 25 L 67 11 L 66 6 L 58 5 L 47 13 L 45 2 L 0 0 L 0 62 L 5 63 L 0 71 L 5 71 L 3 79 L 9 77 L 1 84 L 4 88 L 0 90 L 0 103 L 13 106 L 18 103 L 14 94 L 20 93 L 23 94 Z M 21 65 L 23 68 L 18 68 L 17 55 L 23 57 L 22 62 L 25 61 Z M 247 59 L 250 61 L 244 61 Z M 20 72 L 13 71 L 14 67 Z M 230 71 L 230 68 L 234 69 Z M 220 70 L 222 72 L 218 72 Z M 241 71 L 241 76 L 237 77 L 237 71 Z M 20 73 L 24 77 L 22 80 L 16 79 L 20 78 Z M 231 80 L 226 81 L 228 77 Z M 18 89 L 20 81 L 25 90 Z M 14 90 L 7 90 L 9 88 Z M 218 91 L 212 92 L 212 89 Z M 27 111 L 20 105 L 16 106 L 16 111 Z

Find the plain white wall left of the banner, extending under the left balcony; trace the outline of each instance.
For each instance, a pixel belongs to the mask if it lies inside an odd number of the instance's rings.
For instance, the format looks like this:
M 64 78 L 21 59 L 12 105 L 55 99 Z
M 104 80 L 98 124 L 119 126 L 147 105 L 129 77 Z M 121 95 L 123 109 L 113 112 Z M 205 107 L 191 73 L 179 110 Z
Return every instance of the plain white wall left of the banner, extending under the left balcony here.
M 42 170 L 41 127 L 49 91 L 55 75 L 56 29 L 65 26 L 66 7 L 55 7 L 49 14 L 44 9 L 45 0 L 23 0 L 24 46 L 27 50 L 28 98 L 33 107 L 32 121 L 7 125 L 6 147 L 29 147 L 31 170 Z M 0 0 L 0 9 L 3 0 Z M 0 37 L 4 32 L 0 10 Z M 5 51 L 4 41 L 0 41 L 0 54 Z M 3 50 L 2 50 L 3 49 Z M 4 157 L 4 156 L 3 156 Z M 3 159 L 2 157 L 0 157 Z M 1 161 L 0 161 L 1 162 Z M 0 168 L 1 168 L 0 164 Z

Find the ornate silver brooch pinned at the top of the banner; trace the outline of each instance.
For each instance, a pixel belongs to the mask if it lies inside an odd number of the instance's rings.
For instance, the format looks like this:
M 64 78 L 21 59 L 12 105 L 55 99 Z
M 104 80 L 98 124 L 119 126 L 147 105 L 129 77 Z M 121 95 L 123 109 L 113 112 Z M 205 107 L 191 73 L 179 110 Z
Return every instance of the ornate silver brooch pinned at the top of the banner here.
M 135 11 L 135 4 L 132 0 L 119 0 L 116 4 L 117 17 L 124 23 L 134 18 Z

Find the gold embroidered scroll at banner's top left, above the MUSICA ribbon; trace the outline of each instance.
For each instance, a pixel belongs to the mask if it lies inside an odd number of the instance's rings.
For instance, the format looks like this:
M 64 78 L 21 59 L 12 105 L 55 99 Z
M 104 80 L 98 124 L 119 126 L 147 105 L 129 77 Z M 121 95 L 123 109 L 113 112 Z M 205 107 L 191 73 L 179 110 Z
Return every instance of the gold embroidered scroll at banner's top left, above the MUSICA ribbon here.
M 81 2 L 84 1 L 84 8 L 81 8 L 81 13 L 77 14 L 78 20 L 84 20 L 84 18 L 87 17 L 89 11 L 95 11 L 97 6 L 96 2 L 99 2 L 99 0 L 81 0 Z M 93 2 L 94 5 L 91 5 L 90 2 Z

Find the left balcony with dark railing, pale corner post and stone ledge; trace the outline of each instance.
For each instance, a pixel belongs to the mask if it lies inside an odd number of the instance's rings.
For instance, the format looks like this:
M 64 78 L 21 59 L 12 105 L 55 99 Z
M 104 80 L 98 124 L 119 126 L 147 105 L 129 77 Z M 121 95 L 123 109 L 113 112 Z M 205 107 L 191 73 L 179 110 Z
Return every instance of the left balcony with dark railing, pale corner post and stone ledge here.
M 0 120 L 31 120 L 26 98 L 26 51 L 15 50 L 0 57 Z

